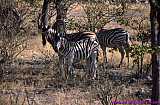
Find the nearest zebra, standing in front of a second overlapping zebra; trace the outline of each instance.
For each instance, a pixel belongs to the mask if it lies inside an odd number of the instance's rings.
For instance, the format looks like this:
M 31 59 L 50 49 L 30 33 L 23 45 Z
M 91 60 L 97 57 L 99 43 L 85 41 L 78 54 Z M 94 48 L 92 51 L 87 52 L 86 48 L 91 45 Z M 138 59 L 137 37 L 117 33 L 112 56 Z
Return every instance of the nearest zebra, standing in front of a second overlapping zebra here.
M 73 42 L 68 41 L 65 37 L 60 37 L 57 48 L 62 71 L 64 70 L 64 65 L 67 65 L 69 73 L 72 74 L 73 63 L 86 60 L 89 76 L 96 77 L 96 58 L 99 50 L 99 43 L 96 40 L 85 38 Z

